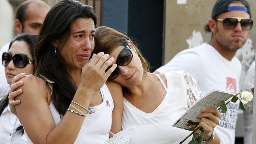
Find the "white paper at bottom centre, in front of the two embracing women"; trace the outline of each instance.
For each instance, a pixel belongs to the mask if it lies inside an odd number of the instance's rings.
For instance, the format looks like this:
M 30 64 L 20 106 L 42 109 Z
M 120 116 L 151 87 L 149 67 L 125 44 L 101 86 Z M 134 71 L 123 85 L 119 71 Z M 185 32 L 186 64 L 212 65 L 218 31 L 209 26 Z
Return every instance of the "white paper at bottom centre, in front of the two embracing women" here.
M 129 144 L 132 134 L 134 133 L 134 129 L 135 125 L 128 127 L 109 138 L 106 142 L 108 142 L 108 144 Z

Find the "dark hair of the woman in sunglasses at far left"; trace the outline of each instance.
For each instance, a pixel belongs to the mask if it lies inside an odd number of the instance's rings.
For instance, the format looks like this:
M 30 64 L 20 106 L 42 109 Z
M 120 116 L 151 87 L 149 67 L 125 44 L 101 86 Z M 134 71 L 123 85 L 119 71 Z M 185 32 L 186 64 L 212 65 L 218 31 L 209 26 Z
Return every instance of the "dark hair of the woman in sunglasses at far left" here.
M 33 74 L 35 74 L 35 70 L 36 70 L 36 63 L 35 63 L 35 42 L 36 42 L 36 39 L 37 39 L 37 35 L 36 34 L 32 34 L 32 33 L 22 33 L 20 35 L 18 35 L 17 37 L 15 37 L 13 39 L 13 41 L 10 42 L 10 45 L 9 45 L 9 49 L 11 48 L 13 42 L 15 41 L 24 41 L 28 44 L 29 48 L 30 48 L 30 52 L 31 52 L 31 55 L 33 57 L 33 64 L 34 64 L 34 67 L 33 67 Z M 3 101 L 2 101 L 2 105 L 0 107 L 0 116 L 1 114 L 3 113 L 4 109 L 7 107 L 8 103 L 9 103 L 9 99 L 8 99 L 8 95 L 7 94 Z M 17 129 L 16 129 L 16 132 L 20 132 L 21 134 L 24 133 L 24 130 L 23 130 L 23 127 L 22 126 L 19 126 Z

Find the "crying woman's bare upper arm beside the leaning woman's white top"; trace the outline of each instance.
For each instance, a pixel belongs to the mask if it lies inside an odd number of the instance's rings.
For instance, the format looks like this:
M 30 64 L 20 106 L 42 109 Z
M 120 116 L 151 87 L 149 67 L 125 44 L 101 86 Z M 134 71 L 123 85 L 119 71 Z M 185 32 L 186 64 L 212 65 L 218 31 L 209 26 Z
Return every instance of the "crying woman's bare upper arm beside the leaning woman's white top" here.
M 123 95 L 122 88 L 119 83 L 114 81 L 107 81 L 106 85 L 111 93 L 114 102 L 114 109 L 112 111 L 112 126 L 111 131 L 118 133 L 122 130 L 122 111 L 123 111 Z

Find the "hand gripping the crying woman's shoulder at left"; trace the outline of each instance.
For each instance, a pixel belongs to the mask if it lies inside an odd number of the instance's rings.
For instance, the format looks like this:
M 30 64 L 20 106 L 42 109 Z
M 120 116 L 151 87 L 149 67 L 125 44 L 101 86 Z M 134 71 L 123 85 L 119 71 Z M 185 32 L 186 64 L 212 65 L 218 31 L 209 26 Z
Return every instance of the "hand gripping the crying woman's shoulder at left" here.
M 17 115 L 15 105 L 20 103 L 20 100 L 15 100 L 16 96 L 19 96 L 22 93 L 22 89 L 18 89 L 20 86 L 23 85 L 22 81 L 19 81 L 21 78 L 25 77 L 25 73 L 21 73 L 13 78 L 13 81 L 11 82 L 11 87 L 9 90 L 9 107 L 11 109 L 11 112 L 15 115 Z

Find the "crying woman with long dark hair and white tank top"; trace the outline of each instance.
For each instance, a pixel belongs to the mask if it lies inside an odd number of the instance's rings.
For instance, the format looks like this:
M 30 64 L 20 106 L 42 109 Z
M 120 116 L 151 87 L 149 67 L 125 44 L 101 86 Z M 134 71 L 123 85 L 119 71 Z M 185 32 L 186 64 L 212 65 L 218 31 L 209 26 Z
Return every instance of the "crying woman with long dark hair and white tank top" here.
M 21 79 L 15 106 L 29 143 L 96 144 L 110 130 L 121 131 L 121 86 L 105 84 L 114 59 L 100 52 L 89 61 L 95 25 L 93 7 L 74 0 L 58 2 L 46 15 L 36 44 L 37 72 Z M 14 95 L 9 98 L 11 104 Z

